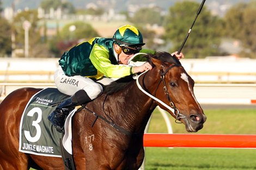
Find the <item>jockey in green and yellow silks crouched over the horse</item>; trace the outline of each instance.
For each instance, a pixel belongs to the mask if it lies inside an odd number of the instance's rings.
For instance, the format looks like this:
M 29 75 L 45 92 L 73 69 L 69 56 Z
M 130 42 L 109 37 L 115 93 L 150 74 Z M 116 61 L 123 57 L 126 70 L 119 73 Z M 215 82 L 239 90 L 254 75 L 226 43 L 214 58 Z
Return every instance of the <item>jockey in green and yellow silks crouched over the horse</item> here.
M 116 30 L 113 38 L 94 37 L 66 51 L 59 60 L 54 82 L 60 92 L 71 97 L 48 116 L 53 126 L 62 131 L 66 116 L 75 106 L 101 95 L 103 88 L 99 83 L 107 85 L 113 81 L 111 78 L 151 70 L 148 62 L 127 66 L 129 59 L 144 45 L 141 32 L 125 25 Z M 182 53 L 179 57 L 183 57 Z

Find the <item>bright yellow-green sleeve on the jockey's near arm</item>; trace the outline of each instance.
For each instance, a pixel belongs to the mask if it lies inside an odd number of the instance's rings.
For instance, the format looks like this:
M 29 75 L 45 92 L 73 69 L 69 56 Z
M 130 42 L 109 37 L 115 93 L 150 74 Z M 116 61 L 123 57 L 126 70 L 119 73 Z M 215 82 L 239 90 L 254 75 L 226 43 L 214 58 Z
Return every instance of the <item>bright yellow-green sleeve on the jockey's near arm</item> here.
M 124 65 L 113 65 L 109 60 L 109 53 L 103 46 L 95 44 L 90 53 L 90 60 L 94 67 L 109 78 L 120 78 L 130 75 L 131 67 Z

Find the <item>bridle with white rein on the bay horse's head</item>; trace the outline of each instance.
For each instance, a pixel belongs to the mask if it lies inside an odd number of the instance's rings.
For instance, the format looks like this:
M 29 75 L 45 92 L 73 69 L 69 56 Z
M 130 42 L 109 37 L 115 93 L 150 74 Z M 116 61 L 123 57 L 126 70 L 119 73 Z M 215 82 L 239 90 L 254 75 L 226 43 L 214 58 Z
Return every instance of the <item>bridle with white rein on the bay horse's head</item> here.
M 147 73 L 148 70 L 145 71 L 145 72 L 143 72 L 143 73 L 141 73 L 141 74 L 139 74 L 138 77 L 137 77 L 137 80 L 136 80 L 136 84 L 137 84 L 139 90 L 141 90 L 143 93 L 145 93 L 145 95 L 148 95 L 150 98 L 153 98 L 154 100 L 156 100 L 157 102 L 161 103 L 164 107 L 166 107 L 167 109 L 169 109 L 170 111 L 173 112 L 173 114 L 174 114 L 174 116 L 175 116 L 175 122 L 176 122 L 176 123 L 182 123 L 182 122 L 180 122 L 180 119 L 181 119 L 181 118 L 186 118 L 186 116 L 180 114 L 180 111 L 175 107 L 175 104 L 173 103 L 172 98 L 170 98 L 169 92 L 168 92 L 168 90 L 167 90 L 166 81 L 165 81 L 165 79 L 164 79 L 164 75 L 165 75 L 170 69 L 172 69 L 173 67 L 180 67 L 180 66 L 181 66 L 181 65 L 174 64 L 174 65 L 168 67 L 165 71 L 161 71 L 161 73 L 160 73 L 160 78 L 161 78 L 161 79 L 160 79 L 160 81 L 159 81 L 159 84 L 158 84 L 157 87 L 156 87 L 156 91 L 157 91 L 157 89 L 159 88 L 161 82 L 163 82 L 163 91 L 164 91 L 164 94 L 167 96 L 167 99 L 168 99 L 168 101 L 169 101 L 169 105 L 167 105 L 166 103 L 162 102 L 162 100 L 156 98 L 155 96 L 150 95 L 150 93 L 148 93 L 147 91 L 145 91 L 145 90 L 142 88 L 142 86 L 139 84 L 139 77 L 141 77 L 143 74 L 144 74 L 144 76 L 145 76 L 145 73 Z M 182 67 L 182 66 L 181 66 L 181 67 Z

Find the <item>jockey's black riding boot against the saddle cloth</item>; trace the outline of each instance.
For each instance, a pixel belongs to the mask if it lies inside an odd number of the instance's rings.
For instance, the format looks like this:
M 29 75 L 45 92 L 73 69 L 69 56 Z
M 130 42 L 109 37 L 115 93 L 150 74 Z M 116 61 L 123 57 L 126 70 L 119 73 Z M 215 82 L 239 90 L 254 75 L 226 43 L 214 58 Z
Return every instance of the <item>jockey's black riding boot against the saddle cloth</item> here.
M 79 90 L 73 96 L 59 104 L 56 110 L 48 116 L 48 120 L 52 123 L 53 127 L 57 129 L 57 131 L 62 132 L 65 119 L 69 115 L 70 111 L 74 110 L 75 106 L 86 104 L 91 100 L 92 99 L 90 99 L 86 91 Z

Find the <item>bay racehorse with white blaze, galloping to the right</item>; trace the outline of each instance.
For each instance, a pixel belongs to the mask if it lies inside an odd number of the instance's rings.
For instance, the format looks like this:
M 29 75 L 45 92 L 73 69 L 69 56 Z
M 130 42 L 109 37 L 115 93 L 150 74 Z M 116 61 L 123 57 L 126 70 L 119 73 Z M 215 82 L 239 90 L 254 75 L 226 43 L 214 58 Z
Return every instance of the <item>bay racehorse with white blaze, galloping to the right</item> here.
M 148 62 L 152 70 L 141 73 L 137 80 L 105 86 L 100 97 L 74 115 L 72 148 L 76 169 L 138 169 L 144 158 L 144 129 L 157 105 L 185 124 L 188 132 L 203 128 L 206 116 L 194 96 L 194 81 L 180 61 L 169 53 L 158 52 L 148 55 Z M 1 103 L 0 169 L 64 169 L 61 158 L 18 150 L 22 112 L 40 90 L 18 89 Z

